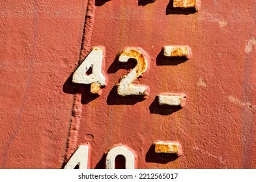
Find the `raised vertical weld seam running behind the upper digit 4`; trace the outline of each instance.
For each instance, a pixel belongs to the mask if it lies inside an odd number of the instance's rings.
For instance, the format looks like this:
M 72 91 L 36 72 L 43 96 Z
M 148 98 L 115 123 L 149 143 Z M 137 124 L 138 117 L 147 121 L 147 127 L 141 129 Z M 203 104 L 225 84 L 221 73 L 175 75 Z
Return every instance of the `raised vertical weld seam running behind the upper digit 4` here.
M 81 40 L 81 48 L 79 54 L 79 62 L 85 59 L 91 50 L 92 29 L 94 24 L 94 14 L 96 6 L 95 0 L 89 0 L 87 11 L 85 14 L 85 23 L 83 26 L 83 36 Z M 78 64 L 79 65 L 79 64 Z M 74 102 L 72 105 L 72 116 L 70 119 L 68 138 L 66 142 L 66 154 L 64 155 L 63 166 L 70 159 L 72 153 L 78 148 L 79 125 L 81 121 L 83 105 L 81 104 L 81 94 L 74 94 Z

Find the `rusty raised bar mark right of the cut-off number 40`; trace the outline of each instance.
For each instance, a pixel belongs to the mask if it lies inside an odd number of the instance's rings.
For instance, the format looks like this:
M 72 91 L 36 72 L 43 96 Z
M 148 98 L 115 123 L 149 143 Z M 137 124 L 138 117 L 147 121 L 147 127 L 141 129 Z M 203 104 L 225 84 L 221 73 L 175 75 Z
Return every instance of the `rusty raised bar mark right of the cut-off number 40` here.
M 182 147 L 179 142 L 156 142 L 154 146 L 155 153 L 182 155 Z

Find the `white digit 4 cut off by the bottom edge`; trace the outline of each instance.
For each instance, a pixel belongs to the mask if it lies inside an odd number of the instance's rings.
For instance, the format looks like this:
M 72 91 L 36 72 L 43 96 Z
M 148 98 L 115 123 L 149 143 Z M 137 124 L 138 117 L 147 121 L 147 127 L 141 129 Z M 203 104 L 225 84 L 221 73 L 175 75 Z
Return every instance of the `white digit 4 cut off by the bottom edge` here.
M 77 165 L 79 169 L 87 169 L 89 146 L 79 146 L 70 157 L 64 169 L 74 169 Z

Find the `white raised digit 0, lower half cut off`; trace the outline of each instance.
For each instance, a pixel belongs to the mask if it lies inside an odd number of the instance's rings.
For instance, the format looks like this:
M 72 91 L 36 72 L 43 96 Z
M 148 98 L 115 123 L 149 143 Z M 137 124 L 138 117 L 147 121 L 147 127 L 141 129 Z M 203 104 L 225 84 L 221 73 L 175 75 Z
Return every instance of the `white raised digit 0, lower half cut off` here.
M 117 155 L 124 156 L 126 169 L 134 169 L 134 153 L 124 146 L 117 146 L 109 150 L 106 156 L 106 169 L 115 169 Z

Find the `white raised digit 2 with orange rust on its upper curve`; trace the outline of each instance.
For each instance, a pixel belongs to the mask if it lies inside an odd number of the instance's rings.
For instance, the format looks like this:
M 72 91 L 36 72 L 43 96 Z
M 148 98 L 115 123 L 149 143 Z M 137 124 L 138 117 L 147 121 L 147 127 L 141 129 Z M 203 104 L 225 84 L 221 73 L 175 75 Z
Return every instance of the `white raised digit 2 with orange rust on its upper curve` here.
M 135 59 L 137 64 L 128 75 L 122 77 L 117 87 L 117 93 L 120 96 L 148 95 L 146 86 L 135 86 L 132 84 L 137 77 L 146 72 L 148 68 L 148 62 L 145 55 L 143 55 L 137 48 L 127 48 L 119 56 L 119 62 L 127 62 L 129 59 Z

